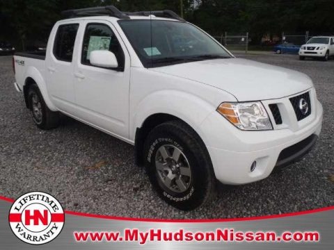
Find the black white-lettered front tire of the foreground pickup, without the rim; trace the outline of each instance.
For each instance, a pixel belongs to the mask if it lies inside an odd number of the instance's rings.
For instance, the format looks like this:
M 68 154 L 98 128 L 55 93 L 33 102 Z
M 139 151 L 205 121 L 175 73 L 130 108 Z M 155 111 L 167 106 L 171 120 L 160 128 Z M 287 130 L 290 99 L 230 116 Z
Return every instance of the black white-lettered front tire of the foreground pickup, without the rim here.
M 180 149 L 189 162 L 191 182 L 184 192 L 168 190 L 156 168 L 157 151 L 166 144 Z M 215 193 L 216 178 L 205 144 L 193 129 L 181 121 L 170 121 L 152 129 L 143 148 L 145 168 L 159 196 L 181 210 L 207 203 Z

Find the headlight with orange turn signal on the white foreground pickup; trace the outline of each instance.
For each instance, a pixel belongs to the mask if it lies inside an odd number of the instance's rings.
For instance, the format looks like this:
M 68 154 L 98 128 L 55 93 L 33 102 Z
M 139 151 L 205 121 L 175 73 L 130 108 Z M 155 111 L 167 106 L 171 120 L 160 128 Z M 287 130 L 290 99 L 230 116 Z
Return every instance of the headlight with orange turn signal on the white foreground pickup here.
M 241 130 L 255 131 L 273 129 L 267 111 L 260 101 L 221 103 L 217 111 Z

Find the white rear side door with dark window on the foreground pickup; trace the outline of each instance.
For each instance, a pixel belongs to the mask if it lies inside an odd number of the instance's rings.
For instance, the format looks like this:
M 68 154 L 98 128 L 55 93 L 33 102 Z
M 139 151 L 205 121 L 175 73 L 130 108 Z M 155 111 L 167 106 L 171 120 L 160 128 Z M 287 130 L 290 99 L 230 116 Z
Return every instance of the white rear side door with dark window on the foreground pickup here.
M 54 105 L 65 113 L 74 107 L 74 50 L 79 22 L 65 23 L 54 27 L 47 46 L 46 81 Z

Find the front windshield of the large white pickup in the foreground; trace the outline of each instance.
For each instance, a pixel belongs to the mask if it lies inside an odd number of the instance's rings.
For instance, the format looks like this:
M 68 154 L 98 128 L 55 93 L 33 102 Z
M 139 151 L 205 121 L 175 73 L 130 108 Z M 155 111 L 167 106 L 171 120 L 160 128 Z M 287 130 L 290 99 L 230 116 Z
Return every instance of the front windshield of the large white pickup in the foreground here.
M 118 23 L 144 67 L 231 58 L 218 42 L 185 22 L 138 19 Z

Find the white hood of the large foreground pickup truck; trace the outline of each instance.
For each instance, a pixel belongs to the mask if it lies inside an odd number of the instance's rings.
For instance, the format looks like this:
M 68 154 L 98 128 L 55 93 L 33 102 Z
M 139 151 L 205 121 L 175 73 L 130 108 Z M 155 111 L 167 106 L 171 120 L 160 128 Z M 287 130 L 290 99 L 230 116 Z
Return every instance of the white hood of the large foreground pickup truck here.
M 233 94 L 238 101 L 278 99 L 312 88 L 303 73 L 241 58 L 202 60 L 151 68 Z

